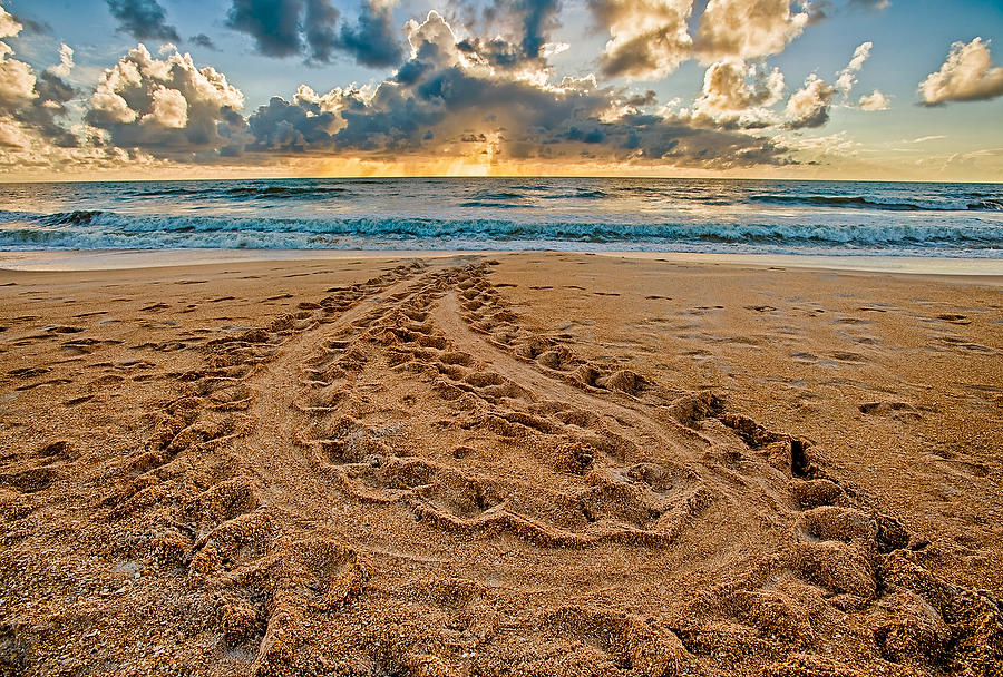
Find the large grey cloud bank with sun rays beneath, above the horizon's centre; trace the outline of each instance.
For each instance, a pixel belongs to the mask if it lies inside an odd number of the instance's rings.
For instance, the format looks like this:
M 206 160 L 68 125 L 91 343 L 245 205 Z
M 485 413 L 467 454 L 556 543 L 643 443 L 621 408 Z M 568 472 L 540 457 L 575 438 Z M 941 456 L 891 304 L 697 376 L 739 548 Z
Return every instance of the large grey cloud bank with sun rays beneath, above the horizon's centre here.
M 374 88 L 301 87 L 249 118 L 249 150 L 352 153 L 367 157 L 607 159 L 676 166 L 777 164 L 768 139 L 702 128 L 672 114 L 640 110 L 653 96 L 625 97 L 595 79 L 559 84 L 494 68 L 460 47 L 437 12 L 408 24 L 411 58 Z M 637 106 L 630 105 L 630 102 Z

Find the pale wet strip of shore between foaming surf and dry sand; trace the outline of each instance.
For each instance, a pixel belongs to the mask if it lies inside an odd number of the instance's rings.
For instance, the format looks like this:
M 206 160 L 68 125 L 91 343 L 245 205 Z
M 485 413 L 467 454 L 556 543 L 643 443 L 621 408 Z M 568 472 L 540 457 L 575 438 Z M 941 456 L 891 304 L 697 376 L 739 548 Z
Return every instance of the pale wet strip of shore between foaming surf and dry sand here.
M 1003 259 L 925 256 L 843 256 L 800 254 L 723 254 L 702 252 L 631 252 L 575 249 L 101 249 L 0 252 L 0 271 L 71 272 L 160 268 L 242 262 L 448 258 L 513 254 L 582 254 L 672 264 L 791 267 L 799 269 L 977 277 L 1003 283 Z M 996 281 L 995 278 L 1001 278 Z

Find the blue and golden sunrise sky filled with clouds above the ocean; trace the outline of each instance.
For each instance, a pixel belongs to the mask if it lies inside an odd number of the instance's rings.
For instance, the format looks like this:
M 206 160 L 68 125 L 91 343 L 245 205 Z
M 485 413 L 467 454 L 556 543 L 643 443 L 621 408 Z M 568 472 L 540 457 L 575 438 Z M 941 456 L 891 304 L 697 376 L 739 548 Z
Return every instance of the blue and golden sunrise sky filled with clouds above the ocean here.
M 1003 2 L 0 0 L 0 180 L 1003 181 Z

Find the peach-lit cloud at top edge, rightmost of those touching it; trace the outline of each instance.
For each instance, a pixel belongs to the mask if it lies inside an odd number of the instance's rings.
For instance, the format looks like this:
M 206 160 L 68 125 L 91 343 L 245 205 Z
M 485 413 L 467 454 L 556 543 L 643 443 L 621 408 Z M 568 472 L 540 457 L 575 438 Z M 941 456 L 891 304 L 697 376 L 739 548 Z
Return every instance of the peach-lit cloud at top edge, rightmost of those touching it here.
M 790 0 L 710 0 L 697 30 L 704 62 L 777 55 L 808 24 L 808 12 L 792 13 Z

